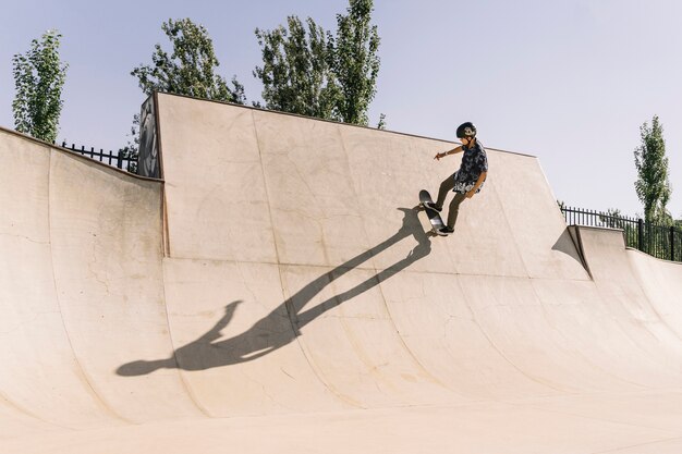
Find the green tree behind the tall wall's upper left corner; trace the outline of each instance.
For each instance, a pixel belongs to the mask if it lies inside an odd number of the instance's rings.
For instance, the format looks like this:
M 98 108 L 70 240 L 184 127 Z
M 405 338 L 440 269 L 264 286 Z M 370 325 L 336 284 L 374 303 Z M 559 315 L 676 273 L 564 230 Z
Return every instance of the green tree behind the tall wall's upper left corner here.
M 224 77 L 216 73 L 220 62 L 204 26 L 190 19 L 169 19 L 161 25 L 161 29 L 171 41 L 172 53 L 169 56 L 157 44 L 151 64 L 139 65 L 131 72 L 146 95 L 159 90 L 242 105 L 245 102 L 244 86 L 236 77 L 232 77 L 230 88 Z

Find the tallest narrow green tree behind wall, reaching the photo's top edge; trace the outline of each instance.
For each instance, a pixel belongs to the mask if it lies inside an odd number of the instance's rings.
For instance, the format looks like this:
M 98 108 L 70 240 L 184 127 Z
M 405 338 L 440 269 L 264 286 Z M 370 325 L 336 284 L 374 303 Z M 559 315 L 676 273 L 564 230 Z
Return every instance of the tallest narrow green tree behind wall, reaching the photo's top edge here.
M 370 24 L 373 11 L 373 0 L 350 0 L 346 14 L 337 14 L 337 36 L 328 34 L 330 65 L 341 90 L 337 109 L 345 123 L 367 125 L 376 95 L 380 39 Z

